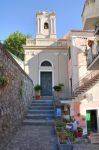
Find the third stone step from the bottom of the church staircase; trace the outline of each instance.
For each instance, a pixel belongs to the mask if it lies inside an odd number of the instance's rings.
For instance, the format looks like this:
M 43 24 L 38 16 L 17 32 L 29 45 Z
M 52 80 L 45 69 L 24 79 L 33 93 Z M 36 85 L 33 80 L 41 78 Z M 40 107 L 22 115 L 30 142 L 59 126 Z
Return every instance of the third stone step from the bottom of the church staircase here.
M 41 109 L 29 109 L 28 110 L 28 113 L 33 113 L 33 114 L 52 114 L 54 113 L 54 110 L 53 109 L 50 109 L 50 110 L 41 110 Z

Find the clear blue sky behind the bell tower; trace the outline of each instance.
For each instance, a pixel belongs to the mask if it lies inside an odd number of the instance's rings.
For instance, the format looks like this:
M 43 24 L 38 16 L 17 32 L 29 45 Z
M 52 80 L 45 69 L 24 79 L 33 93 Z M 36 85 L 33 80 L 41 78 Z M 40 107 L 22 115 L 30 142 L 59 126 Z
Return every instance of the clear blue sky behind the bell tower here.
M 0 40 L 19 31 L 36 35 L 36 12 L 54 11 L 57 19 L 57 37 L 62 38 L 71 29 L 82 29 L 81 13 L 84 0 L 0 0 Z

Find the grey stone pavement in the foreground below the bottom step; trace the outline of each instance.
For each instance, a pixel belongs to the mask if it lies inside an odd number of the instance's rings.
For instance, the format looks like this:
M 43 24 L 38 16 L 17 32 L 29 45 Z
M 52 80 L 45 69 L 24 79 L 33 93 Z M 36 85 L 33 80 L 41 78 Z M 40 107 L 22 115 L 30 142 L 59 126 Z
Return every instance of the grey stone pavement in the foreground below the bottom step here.
M 57 150 L 57 138 L 52 126 L 22 126 L 7 150 Z

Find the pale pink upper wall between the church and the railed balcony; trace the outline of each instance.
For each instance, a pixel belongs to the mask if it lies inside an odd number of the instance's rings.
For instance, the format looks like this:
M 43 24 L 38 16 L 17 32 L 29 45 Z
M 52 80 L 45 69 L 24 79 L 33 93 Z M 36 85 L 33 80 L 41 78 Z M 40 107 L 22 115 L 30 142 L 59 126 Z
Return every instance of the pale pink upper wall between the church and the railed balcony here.
M 87 37 L 91 38 L 91 37 Z M 84 54 L 87 41 L 84 36 L 72 36 L 71 38 L 71 70 L 74 89 L 82 78 L 90 73 L 87 70 L 86 56 Z M 78 84 L 79 85 L 79 84 Z

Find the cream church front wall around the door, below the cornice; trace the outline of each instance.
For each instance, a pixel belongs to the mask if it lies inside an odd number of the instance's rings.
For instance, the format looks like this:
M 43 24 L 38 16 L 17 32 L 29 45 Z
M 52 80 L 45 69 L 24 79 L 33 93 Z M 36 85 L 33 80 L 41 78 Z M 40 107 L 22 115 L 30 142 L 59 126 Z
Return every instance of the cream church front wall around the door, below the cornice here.
M 66 50 L 26 50 L 25 51 L 25 71 L 35 84 L 40 83 L 40 71 L 52 71 L 53 86 L 59 83 L 64 84 L 62 97 L 68 96 L 68 69 Z M 41 67 L 44 60 L 52 63 L 52 67 Z

